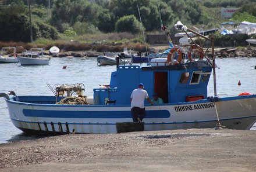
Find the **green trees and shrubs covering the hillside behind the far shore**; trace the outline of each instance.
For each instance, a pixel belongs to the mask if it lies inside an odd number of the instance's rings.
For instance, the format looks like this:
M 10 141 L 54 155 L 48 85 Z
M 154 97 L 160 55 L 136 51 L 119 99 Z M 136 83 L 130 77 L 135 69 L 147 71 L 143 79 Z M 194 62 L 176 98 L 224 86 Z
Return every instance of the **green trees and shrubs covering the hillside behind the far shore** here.
M 225 21 L 256 23 L 255 0 L 30 0 L 30 3 L 33 39 L 42 44 L 71 39 L 84 43 L 143 42 L 137 6 L 146 32 L 160 30 L 159 10 L 163 25 L 172 34 L 176 32 L 173 25 L 179 20 L 188 27 L 205 30 L 221 27 Z M 0 5 L 0 41 L 30 42 L 27 0 L 5 0 Z M 221 8 L 240 10 L 232 19 L 221 19 Z

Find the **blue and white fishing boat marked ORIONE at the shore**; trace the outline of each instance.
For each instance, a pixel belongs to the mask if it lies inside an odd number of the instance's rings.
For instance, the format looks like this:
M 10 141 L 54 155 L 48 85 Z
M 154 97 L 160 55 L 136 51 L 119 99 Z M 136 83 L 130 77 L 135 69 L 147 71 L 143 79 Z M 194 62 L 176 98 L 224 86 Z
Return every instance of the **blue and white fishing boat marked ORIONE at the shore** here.
M 193 31 L 181 23 L 177 23 L 176 28 Z M 119 133 L 224 126 L 250 129 L 256 121 L 256 95 L 217 96 L 213 45 L 212 41 L 212 57 L 205 56 L 203 60 L 187 63 L 144 67 L 120 65 L 117 60 L 109 85 L 93 89 L 93 95 L 85 96 L 84 85 L 79 83 L 51 86 L 53 96 L 18 96 L 15 92 L 1 93 L 0 96 L 6 99 L 12 123 L 33 134 Z M 214 95 L 208 95 L 212 73 Z M 144 83 L 150 98 L 152 93 L 158 93 L 164 103 L 150 105 L 145 102 L 147 115 L 142 122 L 132 122 L 130 95 L 138 83 Z M 74 95 L 85 98 L 87 103 L 70 100 L 69 104 L 60 104 Z

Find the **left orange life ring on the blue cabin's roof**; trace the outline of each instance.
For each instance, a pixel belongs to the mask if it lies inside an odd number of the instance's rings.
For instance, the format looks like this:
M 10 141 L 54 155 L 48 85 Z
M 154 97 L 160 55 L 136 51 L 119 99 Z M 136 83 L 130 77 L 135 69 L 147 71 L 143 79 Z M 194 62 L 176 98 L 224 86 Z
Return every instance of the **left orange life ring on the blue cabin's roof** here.
M 178 58 L 176 61 L 174 61 L 175 52 L 178 53 Z M 186 57 L 185 51 L 182 47 L 173 47 L 172 49 L 170 49 L 170 52 L 167 55 L 167 64 L 177 65 L 180 63 L 184 63 L 185 57 Z

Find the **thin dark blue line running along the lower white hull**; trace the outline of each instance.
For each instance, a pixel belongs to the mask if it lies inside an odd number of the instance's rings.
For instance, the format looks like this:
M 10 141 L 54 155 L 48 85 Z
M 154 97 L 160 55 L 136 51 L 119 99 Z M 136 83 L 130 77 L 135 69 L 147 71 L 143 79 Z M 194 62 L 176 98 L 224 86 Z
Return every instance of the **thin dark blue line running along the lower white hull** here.
M 237 118 L 226 118 L 226 119 L 220 119 L 223 120 L 233 120 L 233 119 L 244 119 L 244 118 L 255 118 L 256 116 L 244 116 L 244 117 L 237 117 Z M 47 123 L 51 124 L 51 122 L 32 122 L 32 121 L 26 121 L 26 120 L 17 120 L 10 118 L 11 120 L 15 120 L 17 122 L 26 122 L 26 123 Z M 172 125 L 172 124 L 182 124 L 182 123 L 202 123 L 202 122 L 216 122 L 217 119 L 212 120 L 197 120 L 197 121 L 183 121 L 183 122 L 159 122 L 159 123 L 145 123 L 145 125 Z M 54 124 L 58 125 L 58 122 L 54 122 Z M 66 122 L 61 123 L 62 125 L 65 125 Z M 67 123 L 68 125 L 116 125 L 116 123 Z

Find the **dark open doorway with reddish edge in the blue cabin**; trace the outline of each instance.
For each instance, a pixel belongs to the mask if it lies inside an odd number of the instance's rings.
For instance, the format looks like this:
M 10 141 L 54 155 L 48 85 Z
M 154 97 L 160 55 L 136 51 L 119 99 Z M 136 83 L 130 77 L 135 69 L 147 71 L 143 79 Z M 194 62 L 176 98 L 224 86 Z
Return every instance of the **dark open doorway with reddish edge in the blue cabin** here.
M 154 74 L 154 92 L 163 99 L 164 103 L 168 100 L 168 72 L 155 72 Z

